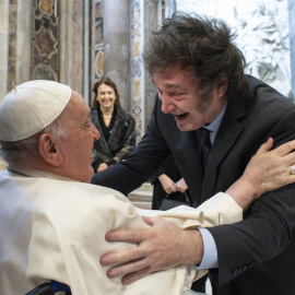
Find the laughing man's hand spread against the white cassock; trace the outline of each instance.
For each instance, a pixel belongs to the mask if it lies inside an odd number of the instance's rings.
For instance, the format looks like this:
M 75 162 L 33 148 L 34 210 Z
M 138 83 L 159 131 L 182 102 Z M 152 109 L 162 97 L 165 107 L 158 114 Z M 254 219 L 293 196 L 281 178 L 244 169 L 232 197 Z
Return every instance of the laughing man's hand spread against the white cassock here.
M 113 231 L 108 241 L 129 241 L 138 247 L 104 255 L 102 266 L 119 264 L 108 270 L 109 279 L 123 275 L 130 284 L 155 271 L 181 263 L 199 264 L 203 257 L 203 241 L 199 231 L 186 231 L 158 217 L 142 217 L 151 227 L 138 231 Z

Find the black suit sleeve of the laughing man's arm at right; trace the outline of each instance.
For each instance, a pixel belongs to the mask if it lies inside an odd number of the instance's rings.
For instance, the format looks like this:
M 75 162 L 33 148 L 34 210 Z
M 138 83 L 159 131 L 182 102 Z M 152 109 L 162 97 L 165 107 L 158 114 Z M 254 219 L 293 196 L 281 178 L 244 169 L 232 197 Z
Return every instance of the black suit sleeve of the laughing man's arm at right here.
M 294 134 L 295 110 L 291 109 L 262 140 L 273 137 L 276 146 L 293 140 Z M 266 193 L 243 222 L 209 228 L 217 247 L 219 270 L 214 275 L 220 285 L 286 249 L 295 224 L 294 188 L 290 185 Z

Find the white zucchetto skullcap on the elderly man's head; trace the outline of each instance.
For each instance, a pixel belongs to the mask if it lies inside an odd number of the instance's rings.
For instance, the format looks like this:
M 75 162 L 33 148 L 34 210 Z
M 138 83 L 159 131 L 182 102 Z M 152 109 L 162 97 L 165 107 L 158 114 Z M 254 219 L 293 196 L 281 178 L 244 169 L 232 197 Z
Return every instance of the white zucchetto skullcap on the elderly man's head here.
M 72 91 L 49 80 L 25 82 L 0 105 L 0 140 L 27 139 L 50 125 L 66 108 Z

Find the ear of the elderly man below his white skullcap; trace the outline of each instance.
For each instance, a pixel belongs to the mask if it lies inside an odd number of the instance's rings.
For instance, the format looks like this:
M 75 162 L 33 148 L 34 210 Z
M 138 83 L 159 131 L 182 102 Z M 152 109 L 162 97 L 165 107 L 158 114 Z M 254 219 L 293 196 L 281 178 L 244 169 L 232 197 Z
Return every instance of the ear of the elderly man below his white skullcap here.
M 51 166 L 62 164 L 61 142 L 52 133 L 44 133 L 39 137 L 39 155 Z

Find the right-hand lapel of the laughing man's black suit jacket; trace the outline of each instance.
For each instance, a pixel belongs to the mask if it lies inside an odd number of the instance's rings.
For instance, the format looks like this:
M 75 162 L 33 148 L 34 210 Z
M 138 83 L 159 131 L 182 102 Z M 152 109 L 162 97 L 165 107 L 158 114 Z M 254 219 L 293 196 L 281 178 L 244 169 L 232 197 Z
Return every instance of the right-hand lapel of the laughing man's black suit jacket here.
M 202 201 L 215 193 L 214 188 L 219 180 L 217 168 L 228 152 L 234 149 L 235 142 L 245 128 L 245 118 L 246 110 L 244 102 L 228 103 L 209 155 L 203 179 Z

